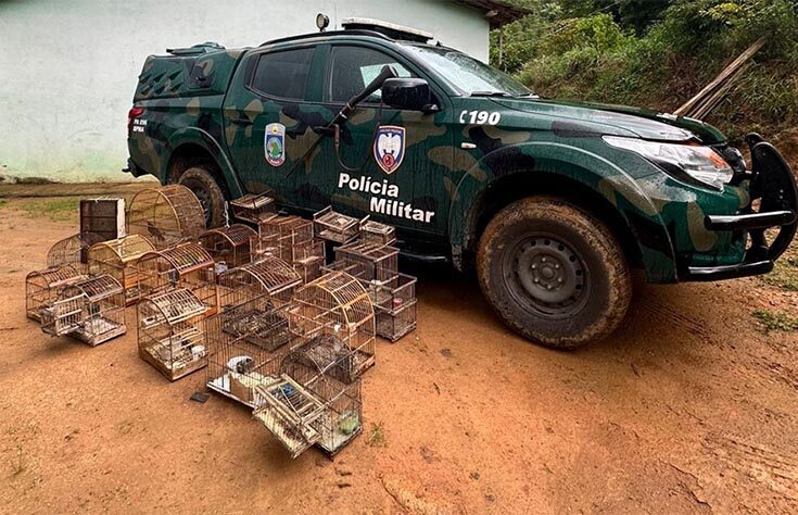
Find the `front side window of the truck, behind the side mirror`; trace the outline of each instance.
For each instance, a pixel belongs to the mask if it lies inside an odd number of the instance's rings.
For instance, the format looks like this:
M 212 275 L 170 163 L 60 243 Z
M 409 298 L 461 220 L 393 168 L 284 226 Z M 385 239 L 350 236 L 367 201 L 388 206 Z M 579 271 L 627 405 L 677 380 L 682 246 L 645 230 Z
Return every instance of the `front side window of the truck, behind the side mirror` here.
M 414 76 L 395 59 L 369 48 L 335 47 L 330 62 L 329 99 L 332 102 L 346 102 L 363 91 L 385 65 L 393 66 L 400 77 Z M 381 95 L 378 90 L 366 101 L 379 102 Z

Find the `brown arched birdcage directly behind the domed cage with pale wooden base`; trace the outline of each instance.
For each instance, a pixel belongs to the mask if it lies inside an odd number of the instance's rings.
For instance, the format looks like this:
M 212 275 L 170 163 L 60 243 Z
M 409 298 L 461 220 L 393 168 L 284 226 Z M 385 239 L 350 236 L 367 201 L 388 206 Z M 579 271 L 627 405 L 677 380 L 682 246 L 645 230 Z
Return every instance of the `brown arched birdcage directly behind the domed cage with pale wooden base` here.
M 142 297 L 185 288 L 208 307 L 208 314 L 216 311 L 216 267 L 211 254 L 199 243 L 179 243 L 148 252 L 139 258 L 136 268 Z

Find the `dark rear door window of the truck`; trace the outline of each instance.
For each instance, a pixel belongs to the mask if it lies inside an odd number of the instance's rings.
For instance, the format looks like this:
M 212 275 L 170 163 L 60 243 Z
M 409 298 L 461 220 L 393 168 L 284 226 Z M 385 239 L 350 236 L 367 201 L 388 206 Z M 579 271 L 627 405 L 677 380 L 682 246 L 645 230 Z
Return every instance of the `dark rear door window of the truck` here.
M 252 87 L 270 97 L 304 99 L 315 51 L 315 48 L 303 48 L 261 55 Z

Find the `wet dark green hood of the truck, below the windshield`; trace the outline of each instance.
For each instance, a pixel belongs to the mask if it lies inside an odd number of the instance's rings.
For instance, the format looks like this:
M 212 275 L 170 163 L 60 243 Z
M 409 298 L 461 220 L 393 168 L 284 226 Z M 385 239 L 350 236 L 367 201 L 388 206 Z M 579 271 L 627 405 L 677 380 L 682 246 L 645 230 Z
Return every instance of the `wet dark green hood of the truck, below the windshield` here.
M 697 120 L 676 117 L 656 111 L 607 105 L 598 103 L 570 103 L 539 99 L 492 99 L 499 105 L 525 113 L 541 114 L 556 118 L 569 118 L 575 123 L 585 122 L 612 127 L 611 134 L 633 133 L 643 139 L 658 141 L 687 141 L 698 139 L 704 145 L 725 142 L 725 137 L 717 128 Z

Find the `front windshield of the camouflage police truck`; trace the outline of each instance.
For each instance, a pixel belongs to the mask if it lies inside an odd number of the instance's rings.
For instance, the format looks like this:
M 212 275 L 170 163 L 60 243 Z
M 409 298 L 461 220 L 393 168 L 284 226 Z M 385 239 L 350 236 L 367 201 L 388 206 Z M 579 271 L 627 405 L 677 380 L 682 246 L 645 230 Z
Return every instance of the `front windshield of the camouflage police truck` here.
M 470 96 L 529 97 L 532 91 L 509 75 L 449 48 L 407 45 L 405 47 L 452 87 Z

